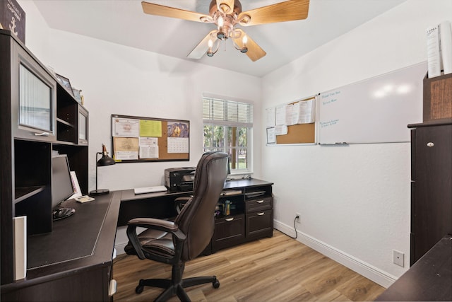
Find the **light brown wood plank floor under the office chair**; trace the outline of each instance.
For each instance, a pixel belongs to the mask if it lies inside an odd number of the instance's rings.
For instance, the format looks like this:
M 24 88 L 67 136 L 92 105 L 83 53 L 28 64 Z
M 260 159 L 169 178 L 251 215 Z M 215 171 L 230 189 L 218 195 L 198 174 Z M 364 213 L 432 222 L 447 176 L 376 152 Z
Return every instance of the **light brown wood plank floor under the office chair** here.
M 153 301 L 162 291 L 139 279 L 171 276 L 171 266 L 136 256 L 119 255 L 114 262 L 118 282 L 114 301 Z M 220 250 L 188 262 L 184 277 L 216 275 L 212 284 L 187 289 L 192 301 L 374 301 L 385 289 L 279 231 L 273 238 Z M 173 297 L 169 301 L 179 301 Z

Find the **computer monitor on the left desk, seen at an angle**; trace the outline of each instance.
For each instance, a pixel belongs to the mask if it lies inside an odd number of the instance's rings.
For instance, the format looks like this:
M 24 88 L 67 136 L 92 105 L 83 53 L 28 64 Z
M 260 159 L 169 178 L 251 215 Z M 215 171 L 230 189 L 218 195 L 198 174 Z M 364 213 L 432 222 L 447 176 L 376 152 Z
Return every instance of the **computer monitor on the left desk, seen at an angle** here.
M 64 219 L 75 213 L 75 209 L 60 207 L 61 202 L 74 193 L 71 170 L 66 154 L 52 156 L 52 213 L 53 220 Z

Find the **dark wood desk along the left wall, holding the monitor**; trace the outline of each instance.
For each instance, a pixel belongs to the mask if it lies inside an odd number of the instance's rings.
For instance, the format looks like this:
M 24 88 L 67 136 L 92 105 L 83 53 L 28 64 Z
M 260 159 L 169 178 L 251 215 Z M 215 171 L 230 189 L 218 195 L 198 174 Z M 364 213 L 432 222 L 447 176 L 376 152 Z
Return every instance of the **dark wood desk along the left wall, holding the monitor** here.
M 109 301 L 120 197 L 64 202 L 76 213 L 29 236 L 27 277 L 1 286 L 1 301 Z

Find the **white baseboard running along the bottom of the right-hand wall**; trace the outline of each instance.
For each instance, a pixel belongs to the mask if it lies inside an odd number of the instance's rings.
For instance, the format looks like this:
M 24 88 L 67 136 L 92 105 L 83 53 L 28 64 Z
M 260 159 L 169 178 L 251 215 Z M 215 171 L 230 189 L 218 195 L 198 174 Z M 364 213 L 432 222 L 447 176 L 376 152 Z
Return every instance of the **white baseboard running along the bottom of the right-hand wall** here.
M 275 229 L 285 233 L 288 236 L 292 237 L 295 236 L 294 228 L 287 226 L 287 224 L 285 223 L 281 223 L 280 221 L 273 221 L 273 226 Z M 298 233 L 297 240 L 299 242 L 309 246 L 309 248 L 312 248 L 323 255 L 326 255 L 326 257 L 335 260 L 341 265 L 344 265 L 345 267 L 352 269 L 353 271 L 357 272 L 358 274 L 361 274 L 367 279 L 370 279 L 371 281 L 380 284 L 384 288 L 388 288 L 397 279 L 391 274 L 382 272 L 380 269 L 377 269 L 376 267 L 373 267 L 366 262 L 363 262 L 355 257 L 352 257 L 351 255 L 347 255 L 347 253 L 338 250 L 332 247 L 331 245 L 323 243 L 320 240 L 316 240 L 316 238 L 312 238 L 311 236 L 308 236 L 307 234 L 302 233 L 300 231 L 297 231 L 297 233 Z

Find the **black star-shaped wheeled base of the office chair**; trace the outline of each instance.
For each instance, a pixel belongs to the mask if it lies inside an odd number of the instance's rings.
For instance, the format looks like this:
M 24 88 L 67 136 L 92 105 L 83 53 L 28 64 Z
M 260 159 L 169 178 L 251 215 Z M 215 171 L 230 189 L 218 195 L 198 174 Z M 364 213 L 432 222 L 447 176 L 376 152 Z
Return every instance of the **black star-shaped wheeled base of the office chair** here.
M 186 294 L 187 287 L 195 286 L 199 284 L 212 283 L 214 289 L 220 287 L 220 281 L 217 277 L 193 277 L 182 279 L 179 283 L 173 284 L 172 280 L 169 279 L 141 279 L 136 286 L 136 294 L 141 294 L 143 292 L 144 286 L 153 286 L 160 289 L 165 289 L 165 291 L 160 294 L 155 301 L 167 301 L 174 295 L 177 295 L 181 301 L 191 301 L 189 296 Z

